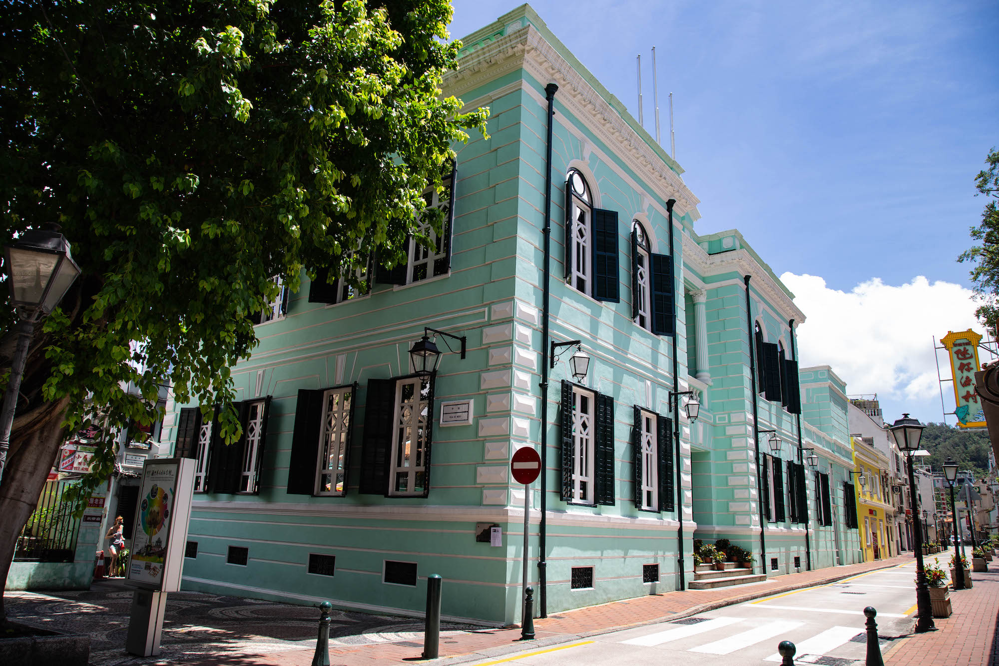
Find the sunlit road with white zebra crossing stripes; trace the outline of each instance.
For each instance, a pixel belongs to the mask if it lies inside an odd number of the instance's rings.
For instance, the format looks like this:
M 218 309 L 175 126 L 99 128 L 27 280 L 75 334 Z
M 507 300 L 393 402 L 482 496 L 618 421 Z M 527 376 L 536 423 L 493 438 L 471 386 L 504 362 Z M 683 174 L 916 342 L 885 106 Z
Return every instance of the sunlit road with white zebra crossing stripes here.
M 789 640 L 797 648 L 796 664 L 855 666 L 863 663 L 867 649 L 864 607 L 877 609 L 882 651 L 890 645 L 892 637 L 911 631 L 916 610 L 914 578 L 915 564 L 910 562 L 694 617 L 479 663 L 480 666 L 500 663 L 755 666 L 780 663 L 777 644 Z

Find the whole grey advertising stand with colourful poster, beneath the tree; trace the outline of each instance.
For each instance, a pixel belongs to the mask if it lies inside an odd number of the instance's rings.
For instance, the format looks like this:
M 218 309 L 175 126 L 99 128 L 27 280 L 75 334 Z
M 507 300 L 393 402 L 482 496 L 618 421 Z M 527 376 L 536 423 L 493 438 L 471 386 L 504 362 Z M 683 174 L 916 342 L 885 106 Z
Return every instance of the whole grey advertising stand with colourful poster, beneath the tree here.
M 181 589 L 194 467 L 192 458 L 146 460 L 143 465 L 126 572 L 126 584 L 135 588 L 125 639 L 130 654 L 160 654 L 167 593 Z

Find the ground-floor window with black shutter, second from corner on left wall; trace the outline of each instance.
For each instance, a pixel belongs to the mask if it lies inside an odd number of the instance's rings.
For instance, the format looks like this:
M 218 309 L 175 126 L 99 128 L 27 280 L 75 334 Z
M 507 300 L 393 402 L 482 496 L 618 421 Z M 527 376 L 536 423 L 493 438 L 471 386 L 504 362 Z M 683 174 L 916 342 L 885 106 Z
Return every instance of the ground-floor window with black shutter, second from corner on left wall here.
M 343 497 L 350 470 L 357 384 L 299 389 L 288 494 Z

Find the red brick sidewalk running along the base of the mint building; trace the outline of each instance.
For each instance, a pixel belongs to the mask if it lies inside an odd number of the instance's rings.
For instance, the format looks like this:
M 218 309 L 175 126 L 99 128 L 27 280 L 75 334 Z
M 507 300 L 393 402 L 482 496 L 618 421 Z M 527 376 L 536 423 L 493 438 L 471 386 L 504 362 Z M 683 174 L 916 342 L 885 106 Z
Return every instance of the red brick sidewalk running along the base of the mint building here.
M 484 629 L 442 637 L 441 661 L 449 664 L 478 661 L 533 647 L 572 641 L 577 638 L 601 634 L 628 627 L 675 620 L 696 615 L 714 608 L 758 599 L 813 585 L 823 585 L 849 576 L 884 569 L 912 561 L 909 554 L 877 562 L 830 567 L 816 571 L 787 574 L 765 583 L 746 587 L 718 588 L 714 590 L 686 590 L 666 592 L 624 601 L 614 601 L 572 611 L 562 611 L 545 619 L 534 620 L 536 637 L 520 641 L 520 630 Z M 976 579 L 977 580 L 977 579 Z M 446 588 L 447 592 L 447 588 Z M 994 616 L 994 614 L 993 614 Z M 220 654 L 210 659 L 184 662 L 188 666 L 310 666 L 315 644 L 311 649 L 288 650 L 271 654 Z M 420 641 L 359 645 L 357 647 L 331 647 L 330 660 L 346 666 L 399 666 L 403 662 L 421 661 L 423 644 Z M 906 662 L 908 663 L 908 662 Z M 930 663 L 930 662 L 920 662 Z M 950 662 L 964 663 L 964 662 Z

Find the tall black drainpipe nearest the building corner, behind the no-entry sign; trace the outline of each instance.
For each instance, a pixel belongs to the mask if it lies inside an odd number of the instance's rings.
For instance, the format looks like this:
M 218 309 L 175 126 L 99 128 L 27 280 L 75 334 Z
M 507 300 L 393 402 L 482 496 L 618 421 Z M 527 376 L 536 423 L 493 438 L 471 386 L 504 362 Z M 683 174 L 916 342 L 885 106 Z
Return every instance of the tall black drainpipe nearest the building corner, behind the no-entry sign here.
M 537 612 L 540 617 L 548 616 L 547 594 L 545 586 L 547 584 L 547 573 L 545 567 L 547 562 L 544 559 L 545 544 L 544 536 L 547 527 L 545 516 L 548 499 L 548 280 L 551 277 L 551 125 L 555 113 L 555 91 L 558 86 L 549 83 L 544 86 L 548 100 L 548 136 L 547 145 L 544 151 L 544 289 L 541 292 L 541 520 L 538 525 L 537 534 L 537 587 L 538 603 Z M 527 556 L 526 553 L 523 554 Z

